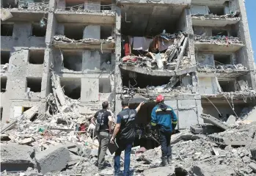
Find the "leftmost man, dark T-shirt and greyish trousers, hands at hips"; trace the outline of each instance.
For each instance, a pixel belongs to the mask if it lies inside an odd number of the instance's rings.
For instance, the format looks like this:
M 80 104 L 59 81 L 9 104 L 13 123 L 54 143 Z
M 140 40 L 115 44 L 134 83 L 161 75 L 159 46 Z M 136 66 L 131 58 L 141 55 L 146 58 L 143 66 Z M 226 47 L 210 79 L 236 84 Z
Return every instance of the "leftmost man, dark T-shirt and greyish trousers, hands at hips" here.
M 111 133 L 112 127 L 112 117 L 111 113 L 107 110 L 109 108 L 109 103 L 104 101 L 102 103 L 102 109 L 97 111 L 91 122 L 96 126 L 95 120 L 100 124 L 100 133 L 98 134 L 98 169 L 99 171 L 103 169 L 103 161 L 106 154 L 107 144 L 109 143 L 109 133 Z

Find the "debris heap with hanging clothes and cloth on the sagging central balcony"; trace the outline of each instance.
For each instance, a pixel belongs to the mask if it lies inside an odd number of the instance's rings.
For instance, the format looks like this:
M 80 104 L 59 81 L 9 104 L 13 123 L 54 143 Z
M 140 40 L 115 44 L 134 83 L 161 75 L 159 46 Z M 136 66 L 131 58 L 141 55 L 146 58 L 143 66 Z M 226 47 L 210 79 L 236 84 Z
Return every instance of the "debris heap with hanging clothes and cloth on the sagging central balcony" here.
M 177 70 L 180 64 L 183 64 L 182 67 L 190 67 L 189 57 L 183 56 L 188 40 L 188 34 L 184 32 L 178 34 L 163 32 L 152 39 L 128 37 L 125 40 L 122 65 L 145 67 L 150 70 Z M 139 51 L 139 56 L 131 54 L 132 50 Z

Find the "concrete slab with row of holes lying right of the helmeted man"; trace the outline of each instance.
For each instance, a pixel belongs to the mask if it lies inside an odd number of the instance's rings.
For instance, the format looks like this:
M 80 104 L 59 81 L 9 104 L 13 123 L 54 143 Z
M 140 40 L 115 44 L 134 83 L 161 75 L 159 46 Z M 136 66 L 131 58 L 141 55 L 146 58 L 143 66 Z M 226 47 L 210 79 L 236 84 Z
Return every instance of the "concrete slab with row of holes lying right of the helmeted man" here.
M 197 134 L 201 134 L 201 133 L 212 134 L 212 133 L 222 132 L 223 130 L 211 124 L 200 124 L 200 125 L 191 125 L 190 131 L 192 133 L 197 133 Z

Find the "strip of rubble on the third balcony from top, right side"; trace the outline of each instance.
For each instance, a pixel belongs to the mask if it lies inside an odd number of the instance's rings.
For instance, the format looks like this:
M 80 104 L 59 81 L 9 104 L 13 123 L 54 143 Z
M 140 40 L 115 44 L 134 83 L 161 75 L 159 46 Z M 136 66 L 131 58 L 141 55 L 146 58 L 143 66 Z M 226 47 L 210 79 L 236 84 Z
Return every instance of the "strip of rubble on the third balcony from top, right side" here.
M 238 65 L 205 65 L 202 63 L 197 64 L 197 70 L 202 72 L 241 72 L 241 71 L 248 71 L 247 67 L 244 67 L 244 65 L 238 64 Z

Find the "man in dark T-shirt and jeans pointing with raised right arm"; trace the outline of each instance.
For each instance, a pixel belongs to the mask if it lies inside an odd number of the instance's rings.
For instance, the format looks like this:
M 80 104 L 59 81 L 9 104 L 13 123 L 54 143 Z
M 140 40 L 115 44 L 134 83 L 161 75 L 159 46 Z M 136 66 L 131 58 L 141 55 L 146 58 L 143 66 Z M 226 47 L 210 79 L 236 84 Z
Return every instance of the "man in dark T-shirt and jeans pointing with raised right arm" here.
M 142 105 L 144 105 L 144 102 L 140 103 L 136 109 L 129 109 L 128 100 L 122 100 L 122 111 L 117 115 L 117 124 L 110 139 L 110 142 L 114 143 L 114 138 L 117 136 L 116 142 L 119 146 L 114 154 L 114 175 L 118 175 L 120 172 L 120 155 L 122 150 L 125 150 L 124 176 L 129 175 L 131 147 L 136 134 L 135 117 Z

